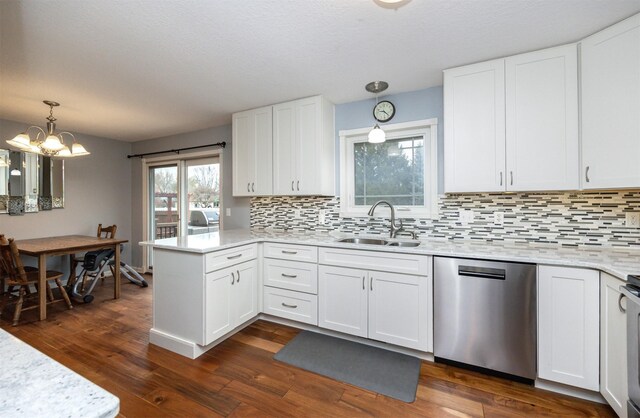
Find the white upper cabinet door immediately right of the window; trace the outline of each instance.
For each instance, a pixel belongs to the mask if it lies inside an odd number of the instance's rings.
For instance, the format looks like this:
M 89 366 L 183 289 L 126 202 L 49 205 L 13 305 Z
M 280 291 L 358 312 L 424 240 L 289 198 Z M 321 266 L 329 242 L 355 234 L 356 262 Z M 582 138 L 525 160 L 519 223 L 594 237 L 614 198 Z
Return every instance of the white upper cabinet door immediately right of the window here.
M 445 192 L 505 190 L 504 60 L 444 72 Z

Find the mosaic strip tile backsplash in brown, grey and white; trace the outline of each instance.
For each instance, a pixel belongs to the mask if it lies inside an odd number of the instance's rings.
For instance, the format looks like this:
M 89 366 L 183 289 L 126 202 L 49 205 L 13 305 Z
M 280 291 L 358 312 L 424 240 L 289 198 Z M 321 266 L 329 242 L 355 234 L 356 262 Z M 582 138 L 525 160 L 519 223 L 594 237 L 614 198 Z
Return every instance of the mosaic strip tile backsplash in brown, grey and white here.
M 640 248 L 640 228 L 625 226 L 626 212 L 640 212 L 640 190 L 453 194 L 440 196 L 438 208 L 433 219 L 403 219 L 405 229 L 420 238 Z M 320 210 L 325 211 L 323 224 Z M 474 220 L 460 222 L 461 210 L 473 211 Z M 338 197 L 257 197 L 250 211 L 251 228 L 389 231 L 385 218 L 341 218 Z M 504 214 L 502 223 L 494 222 L 496 212 Z

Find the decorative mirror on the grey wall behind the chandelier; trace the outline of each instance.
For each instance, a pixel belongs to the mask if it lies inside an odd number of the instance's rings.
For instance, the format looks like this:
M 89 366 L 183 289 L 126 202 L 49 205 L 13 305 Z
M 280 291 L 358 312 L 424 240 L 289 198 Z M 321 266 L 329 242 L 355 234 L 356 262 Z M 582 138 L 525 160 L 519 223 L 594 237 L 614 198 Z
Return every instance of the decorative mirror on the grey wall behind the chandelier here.
M 64 161 L 0 149 L 0 214 L 64 207 Z

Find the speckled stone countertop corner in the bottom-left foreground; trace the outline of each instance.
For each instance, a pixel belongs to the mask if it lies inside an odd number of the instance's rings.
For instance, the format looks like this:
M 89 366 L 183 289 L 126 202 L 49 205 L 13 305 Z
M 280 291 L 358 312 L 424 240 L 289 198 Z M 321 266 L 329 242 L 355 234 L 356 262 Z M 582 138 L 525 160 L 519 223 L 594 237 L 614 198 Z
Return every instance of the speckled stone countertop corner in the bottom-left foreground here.
M 115 417 L 120 400 L 0 329 L 0 417 Z

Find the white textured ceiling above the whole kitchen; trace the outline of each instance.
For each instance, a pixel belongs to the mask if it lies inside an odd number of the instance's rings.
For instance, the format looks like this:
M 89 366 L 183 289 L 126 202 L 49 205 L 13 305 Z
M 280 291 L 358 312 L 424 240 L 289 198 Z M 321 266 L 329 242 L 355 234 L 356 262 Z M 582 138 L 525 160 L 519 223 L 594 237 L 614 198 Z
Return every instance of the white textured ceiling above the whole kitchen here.
M 123 141 L 442 84 L 442 70 L 574 42 L 640 0 L 0 0 L 0 119 Z

